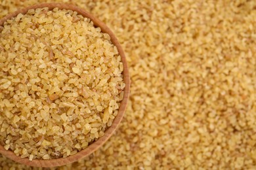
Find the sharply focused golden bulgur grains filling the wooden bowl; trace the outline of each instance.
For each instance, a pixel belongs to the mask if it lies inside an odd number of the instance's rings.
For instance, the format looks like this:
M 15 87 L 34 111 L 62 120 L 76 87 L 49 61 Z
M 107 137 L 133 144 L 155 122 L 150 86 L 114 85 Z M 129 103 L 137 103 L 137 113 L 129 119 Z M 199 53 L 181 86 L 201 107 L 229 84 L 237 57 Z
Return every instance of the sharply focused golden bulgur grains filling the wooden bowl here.
M 123 99 L 110 36 L 72 10 L 36 9 L 0 32 L 0 143 L 21 158 L 66 158 L 104 135 Z

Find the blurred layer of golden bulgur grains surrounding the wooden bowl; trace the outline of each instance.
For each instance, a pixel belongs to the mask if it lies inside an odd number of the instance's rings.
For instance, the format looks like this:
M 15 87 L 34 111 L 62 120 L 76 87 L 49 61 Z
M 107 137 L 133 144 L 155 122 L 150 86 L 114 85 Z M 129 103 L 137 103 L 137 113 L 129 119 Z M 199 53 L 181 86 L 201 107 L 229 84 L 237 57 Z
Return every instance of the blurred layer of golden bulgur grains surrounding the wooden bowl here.
M 0 2 L 2 17 L 38 1 Z M 256 1 L 68 2 L 116 33 L 132 84 L 116 134 L 60 169 L 256 168 Z

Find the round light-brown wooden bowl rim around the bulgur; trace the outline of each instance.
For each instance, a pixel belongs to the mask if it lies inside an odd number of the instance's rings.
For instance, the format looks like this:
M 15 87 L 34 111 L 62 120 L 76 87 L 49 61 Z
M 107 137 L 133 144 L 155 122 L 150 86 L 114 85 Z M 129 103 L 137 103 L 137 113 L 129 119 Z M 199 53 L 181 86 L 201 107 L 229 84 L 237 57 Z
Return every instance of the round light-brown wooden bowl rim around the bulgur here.
M 32 160 L 30 161 L 28 158 L 20 158 L 20 156 L 16 156 L 14 152 L 11 150 L 5 150 L 3 146 L 0 145 L 0 153 L 3 154 L 3 156 L 6 156 L 7 158 L 10 158 L 13 161 L 16 161 L 18 163 L 22 163 L 25 165 L 35 166 L 35 167 L 56 167 L 61 165 L 66 165 L 68 163 L 72 163 L 74 161 L 77 161 L 81 158 L 84 158 L 85 156 L 88 156 L 89 154 L 93 153 L 95 150 L 97 150 L 102 144 L 104 144 L 110 136 L 114 133 L 114 131 L 117 129 L 117 126 L 120 124 L 121 119 L 123 118 L 123 114 L 125 113 L 125 109 L 127 107 L 127 101 L 129 98 L 129 89 L 130 89 L 130 78 L 129 78 L 129 71 L 128 71 L 128 65 L 127 61 L 125 59 L 125 54 L 123 52 L 123 49 L 121 48 L 121 45 L 117 41 L 116 36 L 114 33 L 98 18 L 95 18 L 95 16 L 91 15 L 89 12 L 80 9 L 79 7 L 75 7 L 74 5 L 68 5 L 64 3 L 42 3 L 39 5 L 33 5 L 31 7 L 27 7 L 26 9 L 20 9 L 16 12 L 13 12 L 12 14 L 9 14 L 2 18 L 0 20 L 0 26 L 4 24 L 5 21 L 17 16 L 18 14 L 26 14 L 28 10 L 30 9 L 41 9 L 44 7 L 48 7 L 49 10 L 53 10 L 54 8 L 58 7 L 58 9 L 70 9 L 73 11 L 76 11 L 78 14 L 81 14 L 83 17 L 90 18 L 95 27 L 100 27 L 101 31 L 103 33 L 108 33 L 111 37 L 112 43 L 117 47 L 117 50 L 119 52 L 119 55 L 121 56 L 121 61 L 123 63 L 123 78 L 124 82 L 126 84 L 125 90 L 124 90 L 124 97 L 123 101 L 121 101 L 121 105 L 119 107 L 119 112 L 116 116 L 116 118 L 113 121 L 112 126 L 110 126 L 106 131 L 105 134 L 100 137 L 97 141 L 93 142 L 92 144 L 89 144 L 87 148 L 84 150 L 81 150 L 80 152 L 77 152 L 77 154 L 74 154 L 72 156 L 68 156 L 67 158 L 58 158 L 58 159 L 52 159 L 52 160 Z

